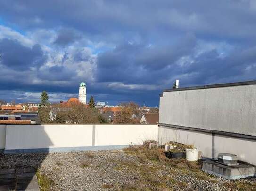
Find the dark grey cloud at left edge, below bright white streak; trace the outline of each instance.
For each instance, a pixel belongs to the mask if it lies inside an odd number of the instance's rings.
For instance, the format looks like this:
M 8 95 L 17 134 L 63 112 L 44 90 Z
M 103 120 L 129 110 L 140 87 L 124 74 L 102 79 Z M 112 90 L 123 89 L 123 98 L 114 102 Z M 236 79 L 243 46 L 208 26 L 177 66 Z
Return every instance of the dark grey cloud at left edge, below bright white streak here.
M 39 67 L 46 60 L 41 46 L 26 47 L 17 40 L 0 40 L 2 52 L 0 63 L 14 70 L 27 70 L 30 67 Z

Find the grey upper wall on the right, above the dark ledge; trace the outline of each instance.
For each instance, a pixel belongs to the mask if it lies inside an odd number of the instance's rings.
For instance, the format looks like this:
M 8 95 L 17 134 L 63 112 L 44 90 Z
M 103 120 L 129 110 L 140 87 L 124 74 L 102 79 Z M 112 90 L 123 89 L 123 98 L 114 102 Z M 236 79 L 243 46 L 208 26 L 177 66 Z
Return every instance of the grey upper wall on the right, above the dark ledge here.
M 256 84 L 163 92 L 159 123 L 256 136 Z

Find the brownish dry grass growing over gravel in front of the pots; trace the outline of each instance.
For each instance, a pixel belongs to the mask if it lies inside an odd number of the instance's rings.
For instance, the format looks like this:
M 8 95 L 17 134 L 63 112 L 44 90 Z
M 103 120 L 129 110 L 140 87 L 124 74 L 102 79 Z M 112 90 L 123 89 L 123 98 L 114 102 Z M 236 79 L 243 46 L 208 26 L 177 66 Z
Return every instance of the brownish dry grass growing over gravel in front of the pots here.
M 183 145 L 179 145 L 179 149 L 182 149 Z M 189 145 L 189 147 L 192 145 Z M 148 149 L 147 147 L 141 146 L 130 146 L 129 148 L 123 149 L 124 153 L 136 156 L 140 164 L 134 165 L 130 164 L 130 167 L 136 169 L 139 172 L 139 180 L 135 184 L 134 188 L 127 188 L 126 190 L 169 190 L 172 187 L 175 189 L 178 186 L 181 190 L 189 189 L 189 184 L 185 181 L 178 181 L 175 176 L 177 173 L 182 173 L 184 175 L 193 175 L 197 180 L 203 180 L 216 184 L 220 182 L 220 179 L 214 175 L 207 174 L 201 171 L 202 161 L 189 162 L 185 159 L 169 159 L 165 156 L 164 150 L 161 148 Z M 151 164 L 149 166 L 149 161 Z M 123 165 L 129 166 L 123 163 Z M 158 176 L 157 172 L 168 168 L 169 175 Z M 160 173 L 161 174 L 161 173 Z M 175 175 L 175 176 L 172 176 Z M 242 190 L 242 191 L 256 191 L 256 182 L 244 180 L 227 181 L 221 183 L 227 190 Z M 170 188 L 171 187 L 171 188 Z M 124 190 L 125 190 L 124 189 Z

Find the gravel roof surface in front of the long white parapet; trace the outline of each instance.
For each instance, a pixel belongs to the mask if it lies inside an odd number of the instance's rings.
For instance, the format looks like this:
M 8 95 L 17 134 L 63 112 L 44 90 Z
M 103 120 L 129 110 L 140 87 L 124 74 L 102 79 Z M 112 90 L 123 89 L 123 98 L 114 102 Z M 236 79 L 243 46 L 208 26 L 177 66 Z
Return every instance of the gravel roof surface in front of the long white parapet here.
M 184 168 L 142 162 L 122 150 L 66 153 L 0 155 L 0 168 L 39 168 L 51 181 L 50 190 L 238 190 L 233 183 L 215 176 L 190 172 Z M 143 171 L 143 169 L 145 171 Z M 148 171 L 152 169 L 154 173 Z M 148 178 L 148 179 L 147 179 Z M 164 184 L 160 183 L 162 181 Z M 254 180 L 241 180 L 252 183 Z M 238 183 L 243 183 L 243 182 Z M 251 187 L 251 190 L 254 190 Z M 256 187 L 255 187 L 256 190 Z

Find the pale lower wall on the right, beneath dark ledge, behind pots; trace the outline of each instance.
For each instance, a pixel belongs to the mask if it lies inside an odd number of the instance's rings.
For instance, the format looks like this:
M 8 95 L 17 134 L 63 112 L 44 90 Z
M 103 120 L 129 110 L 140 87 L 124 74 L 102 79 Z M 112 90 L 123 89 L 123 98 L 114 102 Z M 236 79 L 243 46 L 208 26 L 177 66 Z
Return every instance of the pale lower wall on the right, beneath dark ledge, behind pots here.
M 238 156 L 238 160 L 256 165 L 256 140 L 234 138 L 194 130 L 182 130 L 160 125 L 159 143 L 165 144 L 169 141 L 192 144 L 199 151 L 202 151 L 203 157 L 214 158 L 219 153 L 233 153 Z

